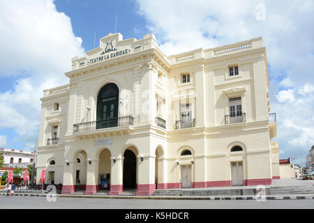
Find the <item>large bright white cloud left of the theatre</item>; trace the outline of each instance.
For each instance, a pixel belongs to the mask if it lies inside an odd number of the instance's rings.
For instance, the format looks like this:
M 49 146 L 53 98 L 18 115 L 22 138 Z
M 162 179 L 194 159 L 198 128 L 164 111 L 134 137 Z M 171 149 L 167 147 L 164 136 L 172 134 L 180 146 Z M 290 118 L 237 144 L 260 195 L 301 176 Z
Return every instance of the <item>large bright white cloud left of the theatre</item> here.
M 67 84 L 73 56 L 84 55 L 82 39 L 53 0 L 0 0 L 0 77 L 18 78 L 0 93 L 0 128 L 13 128 L 22 144 L 38 137 L 43 89 Z

